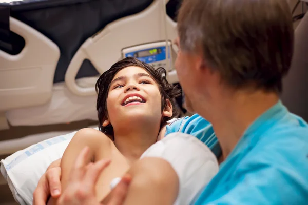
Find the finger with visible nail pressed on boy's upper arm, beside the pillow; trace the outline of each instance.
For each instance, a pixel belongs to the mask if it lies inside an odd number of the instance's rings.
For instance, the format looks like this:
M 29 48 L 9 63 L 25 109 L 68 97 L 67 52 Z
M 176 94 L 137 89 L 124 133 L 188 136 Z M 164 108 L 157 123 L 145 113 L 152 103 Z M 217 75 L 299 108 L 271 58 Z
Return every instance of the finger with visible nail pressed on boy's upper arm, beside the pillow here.
M 61 194 L 61 167 L 54 167 L 46 172 L 51 196 L 57 198 Z

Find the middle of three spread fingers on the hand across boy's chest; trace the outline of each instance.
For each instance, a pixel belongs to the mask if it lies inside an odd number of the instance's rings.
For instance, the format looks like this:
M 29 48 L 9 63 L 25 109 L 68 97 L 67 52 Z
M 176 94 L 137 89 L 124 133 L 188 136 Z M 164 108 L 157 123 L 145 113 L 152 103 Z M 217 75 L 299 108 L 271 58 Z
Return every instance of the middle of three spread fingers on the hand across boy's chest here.
M 93 166 L 88 169 L 85 175 L 85 186 L 87 186 L 88 189 L 95 188 L 99 176 L 109 164 L 110 159 L 102 159 L 98 162 L 95 162 Z

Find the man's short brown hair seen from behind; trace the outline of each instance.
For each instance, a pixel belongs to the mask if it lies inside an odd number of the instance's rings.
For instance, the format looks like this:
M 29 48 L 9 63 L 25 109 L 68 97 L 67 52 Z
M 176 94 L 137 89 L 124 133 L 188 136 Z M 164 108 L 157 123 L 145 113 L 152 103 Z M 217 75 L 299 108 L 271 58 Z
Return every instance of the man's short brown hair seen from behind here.
M 293 54 L 285 0 L 184 0 L 178 15 L 183 51 L 202 51 L 224 83 L 281 92 Z

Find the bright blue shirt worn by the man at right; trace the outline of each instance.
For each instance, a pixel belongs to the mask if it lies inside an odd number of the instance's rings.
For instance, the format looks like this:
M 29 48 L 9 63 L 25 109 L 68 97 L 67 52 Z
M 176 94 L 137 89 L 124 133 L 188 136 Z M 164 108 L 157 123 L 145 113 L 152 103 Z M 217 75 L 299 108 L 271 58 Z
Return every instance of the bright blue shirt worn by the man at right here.
M 244 133 L 195 204 L 308 204 L 308 125 L 279 101 Z

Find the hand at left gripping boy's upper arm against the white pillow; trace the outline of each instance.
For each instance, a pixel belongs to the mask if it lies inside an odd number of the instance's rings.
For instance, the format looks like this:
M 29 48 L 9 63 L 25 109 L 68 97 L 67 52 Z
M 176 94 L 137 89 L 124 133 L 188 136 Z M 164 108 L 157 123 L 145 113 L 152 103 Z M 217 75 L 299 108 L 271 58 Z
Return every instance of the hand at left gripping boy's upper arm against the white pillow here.
M 57 198 L 61 194 L 61 159 L 51 163 L 45 174 L 40 178 L 33 193 L 33 205 L 45 205 L 52 196 Z

